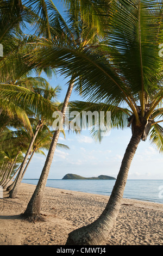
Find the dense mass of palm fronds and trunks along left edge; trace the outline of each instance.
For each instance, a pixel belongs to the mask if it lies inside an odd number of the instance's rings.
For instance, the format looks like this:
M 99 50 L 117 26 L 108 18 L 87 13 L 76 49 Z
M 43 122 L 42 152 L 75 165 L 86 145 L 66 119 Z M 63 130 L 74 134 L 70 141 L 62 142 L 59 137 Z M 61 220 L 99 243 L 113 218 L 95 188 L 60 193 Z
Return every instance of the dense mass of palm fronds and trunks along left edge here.
M 28 42 L 36 38 L 35 35 L 26 36 L 24 31 L 26 25 L 37 22 L 37 15 L 21 1 L 1 1 L 0 9 L 0 35 L 4 49 L 3 57 L 0 58 L 1 185 L 13 193 L 34 152 L 44 154 L 39 148 L 47 150 L 52 140 L 49 127 L 52 126 L 53 112 L 60 109 L 57 96 L 61 89 L 51 87 L 41 76 L 44 72 L 51 78 L 54 69 L 33 68 L 24 58 L 34 47 Z M 45 129 L 48 134 L 45 134 Z M 42 139 L 42 143 L 35 144 L 33 148 L 39 130 L 44 131 L 45 141 Z M 59 146 L 67 148 L 66 145 Z M 17 154 L 21 154 L 21 157 Z M 17 167 L 16 163 L 21 164 Z M 16 174 L 15 181 L 7 187 L 9 180 Z

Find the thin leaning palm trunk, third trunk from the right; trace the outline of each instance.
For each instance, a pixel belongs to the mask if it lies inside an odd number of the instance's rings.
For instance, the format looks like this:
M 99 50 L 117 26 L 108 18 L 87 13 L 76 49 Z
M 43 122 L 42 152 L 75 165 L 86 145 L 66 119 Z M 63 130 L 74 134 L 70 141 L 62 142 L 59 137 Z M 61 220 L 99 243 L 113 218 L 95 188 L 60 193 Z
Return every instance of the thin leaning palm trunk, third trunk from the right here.
M 33 143 L 35 141 L 35 138 L 37 136 L 37 133 L 39 132 L 40 130 L 40 127 L 41 127 L 42 123 L 41 121 L 39 121 L 39 123 L 37 124 L 37 127 L 36 127 L 36 131 L 35 131 L 35 134 L 32 138 L 32 141 L 30 142 L 30 145 L 29 145 L 29 148 L 27 150 L 27 153 L 26 153 L 26 156 L 24 157 L 24 160 L 22 162 L 22 166 L 20 168 L 20 171 L 18 172 L 17 174 L 17 179 L 16 179 L 16 182 L 15 182 L 15 185 L 14 187 L 12 188 L 12 190 L 10 191 L 10 195 L 9 197 L 10 198 L 15 198 L 17 196 L 17 192 L 18 192 L 18 187 L 20 186 L 20 183 L 21 183 L 21 178 L 22 178 L 22 173 L 23 173 L 23 170 L 26 166 L 26 163 L 28 161 L 28 157 L 30 155 L 30 152 L 32 151 L 32 147 L 33 147 Z

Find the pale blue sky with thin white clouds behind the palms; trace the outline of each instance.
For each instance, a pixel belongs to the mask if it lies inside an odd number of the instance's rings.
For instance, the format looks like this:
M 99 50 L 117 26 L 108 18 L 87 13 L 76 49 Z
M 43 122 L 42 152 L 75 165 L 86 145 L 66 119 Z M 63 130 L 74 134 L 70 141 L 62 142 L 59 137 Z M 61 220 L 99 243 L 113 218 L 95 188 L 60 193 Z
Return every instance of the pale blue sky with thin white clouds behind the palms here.
M 59 1 L 53 1 L 61 12 Z M 59 100 L 63 101 L 67 84 L 64 77 L 53 77 L 48 80 L 51 86 L 60 85 L 62 91 Z M 74 91 L 70 100 L 83 100 Z M 121 161 L 131 138 L 131 129 L 111 130 L 101 143 L 95 142 L 89 131 L 82 131 L 80 135 L 66 132 L 59 137 L 59 143 L 66 144 L 69 150 L 55 150 L 54 158 L 48 179 L 62 179 L 67 173 L 78 174 L 85 177 L 109 175 L 117 177 Z M 47 151 L 45 154 L 47 155 Z M 29 164 L 24 179 L 39 179 L 46 157 L 35 154 Z M 163 156 L 158 153 L 147 139 L 140 142 L 134 159 L 131 163 L 128 179 L 162 179 Z

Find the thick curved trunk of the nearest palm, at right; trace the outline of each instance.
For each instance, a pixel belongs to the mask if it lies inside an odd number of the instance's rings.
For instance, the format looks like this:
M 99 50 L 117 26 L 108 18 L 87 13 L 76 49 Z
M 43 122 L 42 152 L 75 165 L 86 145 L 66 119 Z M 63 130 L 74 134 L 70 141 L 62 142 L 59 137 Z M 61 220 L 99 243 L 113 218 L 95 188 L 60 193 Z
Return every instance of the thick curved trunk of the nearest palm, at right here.
M 131 161 L 133 160 L 137 146 L 140 143 L 144 127 L 136 129 L 130 139 L 126 153 L 124 154 L 120 172 L 109 198 L 108 204 L 99 218 L 89 225 L 76 229 L 68 234 L 66 245 L 103 245 L 109 237 L 109 232 L 115 224 L 120 210 L 124 188 Z

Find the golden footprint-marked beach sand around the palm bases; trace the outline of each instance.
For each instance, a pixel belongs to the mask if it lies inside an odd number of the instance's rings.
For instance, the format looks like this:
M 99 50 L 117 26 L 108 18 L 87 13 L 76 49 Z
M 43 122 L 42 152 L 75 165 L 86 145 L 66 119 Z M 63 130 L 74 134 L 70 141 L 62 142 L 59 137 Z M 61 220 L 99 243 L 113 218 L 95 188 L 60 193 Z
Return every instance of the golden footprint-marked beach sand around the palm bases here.
M 41 214 L 46 222 L 21 220 L 35 185 L 21 184 L 18 197 L 1 200 L 0 245 L 65 245 L 68 233 L 96 220 L 107 196 L 46 187 Z M 163 245 L 163 204 L 123 199 L 103 245 Z

